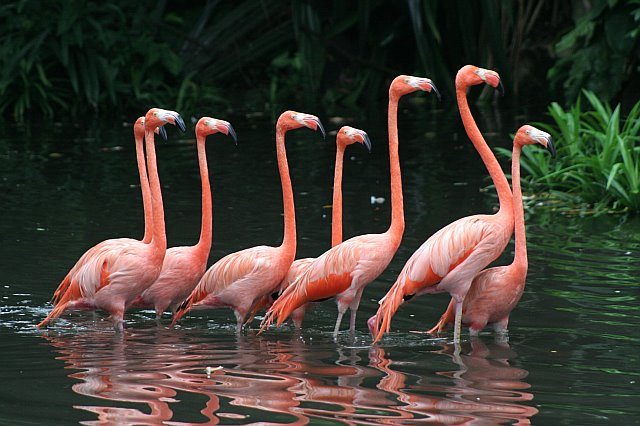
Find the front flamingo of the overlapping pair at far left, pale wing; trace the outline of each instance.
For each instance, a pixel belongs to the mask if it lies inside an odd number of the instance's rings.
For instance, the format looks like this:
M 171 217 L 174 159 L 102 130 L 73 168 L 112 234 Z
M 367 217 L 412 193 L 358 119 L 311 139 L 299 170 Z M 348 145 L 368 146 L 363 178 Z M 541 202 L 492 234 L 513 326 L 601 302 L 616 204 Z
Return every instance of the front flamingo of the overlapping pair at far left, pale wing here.
M 145 115 L 145 142 L 153 231 L 151 241 L 133 240 L 126 245 L 114 245 L 96 251 L 72 277 L 66 291 L 38 327 L 58 318 L 67 309 L 103 309 L 111 314 L 114 328 L 123 329 L 124 311 L 133 299 L 149 287 L 160 275 L 167 248 L 164 226 L 162 193 L 156 164 L 154 131 L 166 123 L 178 125 L 185 130 L 184 121 L 177 112 L 158 108 Z

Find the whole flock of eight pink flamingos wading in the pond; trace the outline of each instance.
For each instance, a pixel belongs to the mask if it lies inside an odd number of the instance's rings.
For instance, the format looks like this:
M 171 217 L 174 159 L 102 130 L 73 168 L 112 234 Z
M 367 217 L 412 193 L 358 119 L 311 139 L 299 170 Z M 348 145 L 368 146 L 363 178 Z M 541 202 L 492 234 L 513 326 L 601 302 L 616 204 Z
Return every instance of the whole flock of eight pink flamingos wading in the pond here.
M 424 293 L 447 292 L 451 302 L 429 333 L 442 332 L 454 324 L 454 342 L 460 341 L 462 324 L 476 335 L 487 324 L 506 333 L 509 314 L 524 290 L 527 250 L 524 209 L 520 188 L 520 152 L 524 145 L 540 144 L 555 156 L 548 133 L 525 125 L 513 140 L 513 192 L 498 161 L 476 125 L 467 102 L 471 86 L 489 84 L 502 92 L 499 75 L 472 65 L 462 67 L 455 80 L 456 97 L 464 128 L 480 154 L 498 192 L 500 208 L 492 215 L 464 217 L 427 239 L 407 260 L 388 293 L 369 318 L 369 330 L 377 342 L 391 327 L 400 305 Z M 293 189 L 285 151 L 285 134 L 308 127 L 324 129 L 318 117 L 286 111 L 276 124 L 276 152 L 283 192 L 284 237 L 278 247 L 257 246 L 228 254 L 206 269 L 211 248 L 212 201 L 205 139 L 223 133 L 236 139 L 226 121 L 201 118 L 195 127 L 202 181 L 202 224 L 198 243 L 167 249 L 164 211 L 154 138 L 166 137 L 165 124 L 183 132 L 184 121 L 174 111 L 150 109 L 134 125 L 136 154 L 145 215 L 142 240 L 117 238 L 87 250 L 71 268 L 53 294 L 54 308 L 38 324 L 42 327 L 69 309 L 102 309 L 110 313 L 114 327 L 123 329 L 124 312 L 154 308 L 157 318 L 169 309 L 173 324 L 191 309 L 229 307 L 237 319 L 238 332 L 260 309 L 267 309 L 260 332 L 272 323 L 281 325 L 292 316 L 300 327 L 305 306 L 335 298 L 338 305 L 334 336 L 342 317 L 351 311 L 350 331 L 355 331 L 356 312 L 364 288 L 389 265 L 404 232 L 402 182 L 398 157 L 397 111 L 400 98 L 415 91 L 439 93 L 431 80 L 401 75 L 389 88 L 388 131 L 391 173 L 391 224 L 381 234 L 366 234 L 342 241 L 342 161 L 346 146 L 358 142 L 370 148 L 367 134 L 344 126 L 337 133 L 334 175 L 331 249 L 317 258 L 295 259 L 296 223 Z M 143 147 L 144 139 L 144 147 Z M 146 161 L 145 154 L 146 151 Z M 515 228 L 515 258 L 508 266 L 485 269 L 504 251 Z

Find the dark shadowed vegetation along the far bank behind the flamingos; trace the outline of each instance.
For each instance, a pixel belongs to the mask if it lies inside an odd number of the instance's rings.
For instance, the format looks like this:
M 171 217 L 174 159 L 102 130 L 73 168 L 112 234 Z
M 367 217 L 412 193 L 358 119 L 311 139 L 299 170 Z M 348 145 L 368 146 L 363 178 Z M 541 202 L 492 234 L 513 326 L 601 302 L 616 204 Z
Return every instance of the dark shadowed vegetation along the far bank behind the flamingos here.
M 18 0 L 0 6 L 0 114 L 355 107 L 399 73 L 451 98 L 466 63 L 498 70 L 511 99 L 552 95 L 550 70 L 567 99 L 608 100 L 637 80 L 639 20 L 639 0 Z

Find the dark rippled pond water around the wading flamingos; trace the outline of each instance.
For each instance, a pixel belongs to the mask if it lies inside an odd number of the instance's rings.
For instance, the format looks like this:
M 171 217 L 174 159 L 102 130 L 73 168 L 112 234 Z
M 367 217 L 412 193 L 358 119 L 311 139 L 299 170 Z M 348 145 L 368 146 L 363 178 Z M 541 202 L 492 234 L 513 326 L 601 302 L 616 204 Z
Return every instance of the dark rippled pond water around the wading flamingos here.
M 72 313 L 34 329 L 84 250 L 106 238 L 141 236 L 133 140 L 120 123 L 1 129 L 0 423 L 638 423 L 637 219 L 530 213 L 527 288 L 508 341 L 465 334 L 456 355 L 450 334 L 411 333 L 431 327 L 446 308 L 447 296 L 436 295 L 403 305 L 392 333 L 370 345 L 365 320 L 411 253 L 443 225 L 497 203 L 478 190 L 488 181 L 455 111 L 403 107 L 405 237 L 388 270 L 365 290 L 355 340 L 344 333 L 336 342 L 331 301 L 307 314 L 300 334 L 285 326 L 256 336 L 255 321 L 238 337 L 229 310 L 194 313 L 174 329 L 157 326 L 149 311 L 132 312 L 123 335 L 103 313 Z M 477 116 L 493 146 L 508 147 L 508 133 L 523 123 L 492 110 Z M 389 223 L 385 118 L 368 117 L 349 121 L 369 132 L 373 152 L 347 151 L 346 237 Z M 272 125 L 228 118 L 238 146 L 222 136 L 208 142 L 210 264 L 282 238 Z M 327 130 L 339 127 L 322 118 Z M 168 239 L 188 245 L 200 226 L 195 148 L 189 133 L 169 135 L 158 147 Z M 329 247 L 334 140 L 305 129 L 288 137 L 299 257 Z M 385 202 L 372 205 L 371 196 Z M 512 256 L 509 246 L 498 263 Z

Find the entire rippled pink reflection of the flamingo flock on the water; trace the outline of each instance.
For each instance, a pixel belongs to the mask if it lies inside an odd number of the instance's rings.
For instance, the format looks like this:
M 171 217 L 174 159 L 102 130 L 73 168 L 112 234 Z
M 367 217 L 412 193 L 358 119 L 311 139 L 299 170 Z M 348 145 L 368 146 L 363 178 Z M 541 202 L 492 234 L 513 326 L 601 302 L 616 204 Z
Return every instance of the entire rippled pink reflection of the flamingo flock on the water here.
M 73 370 L 69 377 L 79 381 L 73 391 L 102 401 L 74 406 L 95 413 L 95 423 L 527 424 L 537 413 L 526 405 L 533 399 L 528 373 L 510 365 L 516 355 L 506 343 L 474 339 L 461 355 L 453 346 L 429 352 L 428 365 L 443 356 L 456 364 L 434 374 L 402 371 L 379 346 L 344 348 L 333 341 L 207 339 L 155 327 L 119 336 L 104 328 L 43 337 Z M 210 374 L 207 367 L 214 367 Z

